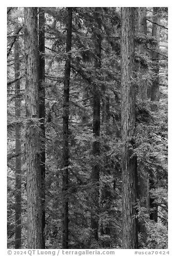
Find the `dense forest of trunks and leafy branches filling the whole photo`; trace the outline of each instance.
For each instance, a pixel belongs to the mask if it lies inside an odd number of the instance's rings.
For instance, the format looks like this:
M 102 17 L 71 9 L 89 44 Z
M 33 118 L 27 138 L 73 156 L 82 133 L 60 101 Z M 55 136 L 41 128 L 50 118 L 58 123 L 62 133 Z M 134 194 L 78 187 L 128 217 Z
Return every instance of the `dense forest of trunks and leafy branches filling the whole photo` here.
M 167 16 L 8 7 L 8 248 L 167 248 Z

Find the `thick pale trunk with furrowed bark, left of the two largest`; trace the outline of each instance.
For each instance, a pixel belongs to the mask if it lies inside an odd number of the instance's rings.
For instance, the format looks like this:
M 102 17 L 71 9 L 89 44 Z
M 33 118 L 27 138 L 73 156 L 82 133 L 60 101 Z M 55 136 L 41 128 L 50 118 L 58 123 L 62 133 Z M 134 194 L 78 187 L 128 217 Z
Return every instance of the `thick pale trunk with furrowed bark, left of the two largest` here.
M 28 248 L 42 248 L 38 9 L 24 8 Z

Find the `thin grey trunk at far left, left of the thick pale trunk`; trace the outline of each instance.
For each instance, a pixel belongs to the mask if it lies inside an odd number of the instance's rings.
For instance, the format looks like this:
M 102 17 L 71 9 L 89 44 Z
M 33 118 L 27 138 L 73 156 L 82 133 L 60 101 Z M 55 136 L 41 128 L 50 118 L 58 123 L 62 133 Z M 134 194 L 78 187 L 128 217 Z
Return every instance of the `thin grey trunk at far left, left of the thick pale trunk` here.
M 14 79 L 20 76 L 19 62 L 19 41 L 14 42 Z M 20 117 L 21 114 L 21 96 L 20 96 L 20 80 L 15 83 L 15 116 Z M 16 136 L 16 184 L 15 184 L 15 248 L 21 248 L 21 125 L 18 123 L 15 126 Z

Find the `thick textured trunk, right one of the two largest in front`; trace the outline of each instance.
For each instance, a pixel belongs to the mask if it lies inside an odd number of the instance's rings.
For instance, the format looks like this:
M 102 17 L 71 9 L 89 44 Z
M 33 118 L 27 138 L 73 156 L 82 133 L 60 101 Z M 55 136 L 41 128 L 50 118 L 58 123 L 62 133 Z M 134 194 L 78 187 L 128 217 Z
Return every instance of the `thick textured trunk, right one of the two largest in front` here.
M 134 8 L 121 8 L 121 130 L 123 248 L 137 248 L 137 162 L 133 157 L 135 130 Z

